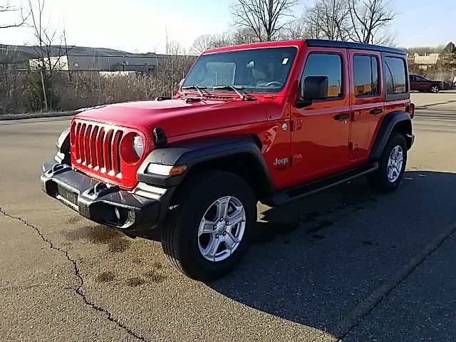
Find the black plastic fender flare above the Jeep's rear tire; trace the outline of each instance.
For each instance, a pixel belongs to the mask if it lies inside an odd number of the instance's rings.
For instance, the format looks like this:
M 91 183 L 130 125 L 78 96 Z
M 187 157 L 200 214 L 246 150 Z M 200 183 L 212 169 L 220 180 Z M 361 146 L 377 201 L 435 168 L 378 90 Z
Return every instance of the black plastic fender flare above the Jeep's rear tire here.
M 410 132 L 408 132 L 406 134 L 410 135 L 410 138 L 408 138 L 408 137 L 405 137 L 405 138 L 406 138 L 406 140 L 407 139 L 410 140 L 410 141 L 407 141 L 408 148 L 410 149 L 410 147 L 413 143 L 413 136 L 412 136 L 412 131 L 411 131 L 412 119 L 410 118 L 409 113 L 398 110 L 393 113 L 389 113 L 383 119 L 383 122 L 381 123 L 380 129 L 378 130 L 378 133 L 377 133 L 377 138 L 375 138 L 375 141 L 373 142 L 371 154 L 369 155 L 369 158 L 371 160 L 378 160 L 380 158 L 380 155 L 382 154 L 383 149 L 385 148 L 386 142 L 388 142 L 388 139 L 390 138 L 390 135 L 395 128 L 395 125 L 397 125 L 400 122 L 407 122 L 407 121 L 410 122 Z

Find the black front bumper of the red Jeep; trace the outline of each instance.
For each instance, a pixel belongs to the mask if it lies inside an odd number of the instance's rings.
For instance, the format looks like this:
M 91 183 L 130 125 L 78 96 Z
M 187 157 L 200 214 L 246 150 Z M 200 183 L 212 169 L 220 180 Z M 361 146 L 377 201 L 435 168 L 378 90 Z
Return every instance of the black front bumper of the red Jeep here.
M 55 160 L 43 164 L 41 187 L 46 194 L 83 217 L 131 237 L 145 238 L 165 218 L 174 192 L 174 188 L 144 183 L 131 192 L 120 190 L 116 185 L 98 182 Z

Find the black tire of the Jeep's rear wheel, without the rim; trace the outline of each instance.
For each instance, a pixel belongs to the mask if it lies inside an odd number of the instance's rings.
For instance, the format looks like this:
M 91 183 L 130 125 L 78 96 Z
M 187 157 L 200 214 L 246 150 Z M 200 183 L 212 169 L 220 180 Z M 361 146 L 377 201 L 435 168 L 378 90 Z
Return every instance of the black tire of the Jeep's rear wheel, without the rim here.
M 391 152 L 396 146 L 400 146 L 403 151 L 403 164 L 402 168 L 399 172 L 398 178 L 391 182 L 388 179 L 388 161 L 390 159 Z M 383 194 L 393 192 L 395 190 L 405 172 L 405 165 L 407 164 L 407 144 L 405 143 L 405 138 L 402 134 L 398 132 L 393 132 L 386 142 L 385 148 L 383 149 L 382 154 L 380 155 L 380 159 L 378 160 L 378 170 L 367 175 L 366 179 L 368 181 L 368 185 L 371 186 L 373 190 L 376 192 L 380 192 Z

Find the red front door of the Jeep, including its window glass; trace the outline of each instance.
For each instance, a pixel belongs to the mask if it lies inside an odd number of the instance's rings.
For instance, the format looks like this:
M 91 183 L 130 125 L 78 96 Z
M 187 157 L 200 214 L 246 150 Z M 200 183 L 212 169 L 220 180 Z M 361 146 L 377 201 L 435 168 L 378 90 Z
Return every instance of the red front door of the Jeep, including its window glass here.
M 326 100 L 291 107 L 291 175 L 312 180 L 343 167 L 351 118 L 346 49 L 309 48 L 306 55 L 301 84 L 307 76 L 328 77 Z

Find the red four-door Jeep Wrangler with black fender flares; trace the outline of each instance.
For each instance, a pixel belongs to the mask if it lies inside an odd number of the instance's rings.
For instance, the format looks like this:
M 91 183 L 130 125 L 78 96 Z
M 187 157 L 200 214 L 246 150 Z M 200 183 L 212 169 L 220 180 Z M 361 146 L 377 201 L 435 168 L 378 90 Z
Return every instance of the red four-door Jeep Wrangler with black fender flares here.
M 43 165 L 43 190 L 129 237 L 161 229 L 177 269 L 215 279 L 270 206 L 366 175 L 398 187 L 413 144 L 395 48 L 274 41 L 200 56 L 175 98 L 86 110 Z

